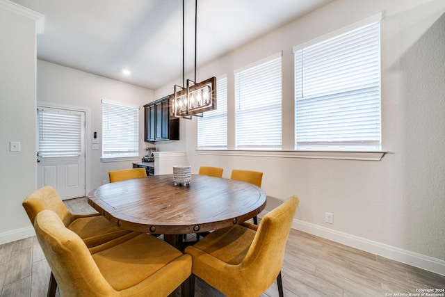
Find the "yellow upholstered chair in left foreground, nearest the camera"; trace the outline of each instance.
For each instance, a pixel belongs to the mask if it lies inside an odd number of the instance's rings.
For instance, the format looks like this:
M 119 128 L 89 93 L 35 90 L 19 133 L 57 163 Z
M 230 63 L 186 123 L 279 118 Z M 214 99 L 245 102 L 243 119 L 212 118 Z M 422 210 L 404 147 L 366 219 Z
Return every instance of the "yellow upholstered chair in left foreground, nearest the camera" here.
M 152 235 L 131 232 L 88 250 L 54 211 L 40 211 L 34 227 L 60 296 L 165 297 L 181 284 L 188 294 L 190 255 Z

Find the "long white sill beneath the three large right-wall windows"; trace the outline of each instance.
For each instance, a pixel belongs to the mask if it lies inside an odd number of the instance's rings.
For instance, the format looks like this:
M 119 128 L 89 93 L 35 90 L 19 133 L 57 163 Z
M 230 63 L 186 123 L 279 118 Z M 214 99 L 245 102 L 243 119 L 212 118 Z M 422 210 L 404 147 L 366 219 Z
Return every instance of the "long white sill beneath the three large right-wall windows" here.
M 197 154 L 218 156 L 261 156 L 275 158 L 337 159 L 380 161 L 387 152 L 372 151 L 277 151 L 277 150 L 196 150 Z

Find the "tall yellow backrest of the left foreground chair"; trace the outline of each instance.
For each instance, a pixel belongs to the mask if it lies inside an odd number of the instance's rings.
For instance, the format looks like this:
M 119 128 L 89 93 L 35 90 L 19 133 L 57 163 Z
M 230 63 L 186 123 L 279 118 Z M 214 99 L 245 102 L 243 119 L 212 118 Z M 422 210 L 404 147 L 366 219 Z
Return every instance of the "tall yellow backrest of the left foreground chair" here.
M 40 211 L 35 234 L 63 296 L 113 296 L 82 239 L 68 230 L 54 211 Z

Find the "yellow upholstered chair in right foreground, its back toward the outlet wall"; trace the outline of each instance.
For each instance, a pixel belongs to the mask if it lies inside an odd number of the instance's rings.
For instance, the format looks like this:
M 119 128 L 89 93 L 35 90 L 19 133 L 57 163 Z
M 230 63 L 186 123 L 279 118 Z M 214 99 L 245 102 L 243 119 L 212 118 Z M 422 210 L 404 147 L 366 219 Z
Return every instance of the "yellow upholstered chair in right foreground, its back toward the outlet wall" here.
M 298 207 L 292 195 L 270 211 L 259 225 L 242 223 L 216 230 L 186 253 L 192 256 L 191 295 L 194 275 L 228 297 L 261 295 L 277 279 L 283 296 L 281 267 L 284 248 Z

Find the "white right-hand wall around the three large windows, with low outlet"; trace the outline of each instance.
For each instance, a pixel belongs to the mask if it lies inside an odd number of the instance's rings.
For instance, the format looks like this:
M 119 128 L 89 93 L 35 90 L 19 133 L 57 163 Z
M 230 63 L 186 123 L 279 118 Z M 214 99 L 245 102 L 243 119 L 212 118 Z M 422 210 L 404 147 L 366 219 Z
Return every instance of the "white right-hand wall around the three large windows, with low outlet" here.
M 198 81 L 227 73 L 233 90 L 234 69 L 283 51 L 283 144 L 292 149 L 292 47 L 381 11 L 382 144 L 389 152 L 382 161 L 198 154 L 197 120 L 181 120 L 186 131 L 175 145 L 186 150 L 193 172 L 203 165 L 223 167 L 223 177 L 233 168 L 260 170 L 268 195 L 298 194 L 302 230 L 445 274 L 444 1 L 334 1 L 201 67 Z M 229 139 L 230 100 L 229 93 Z M 271 209 L 280 201 L 268 202 Z M 333 225 L 324 222 L 325 212 L 334 214 Z

